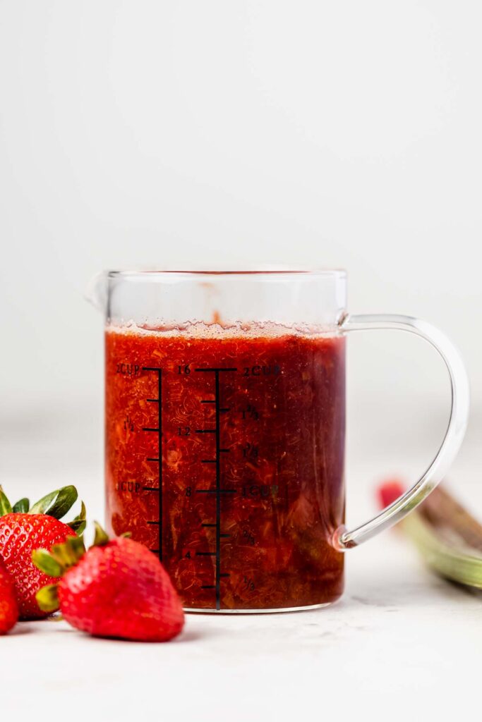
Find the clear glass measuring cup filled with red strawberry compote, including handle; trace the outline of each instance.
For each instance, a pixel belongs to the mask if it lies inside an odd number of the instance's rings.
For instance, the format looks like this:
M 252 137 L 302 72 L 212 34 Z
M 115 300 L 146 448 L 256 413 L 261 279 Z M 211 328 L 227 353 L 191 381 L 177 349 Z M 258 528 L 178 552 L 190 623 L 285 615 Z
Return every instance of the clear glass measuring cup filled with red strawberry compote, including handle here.
M 455 348 L 408 316 L 348 316 L 345 272 L 110 271 L 106 522 L 157 554 L 187 610 L 323 606 L 343 558 L 431 492 L 468 419 Z M 395 503 L 344 526 L 345 336 L 397 329 L 449 370 L 452 410 L 431 466 Z

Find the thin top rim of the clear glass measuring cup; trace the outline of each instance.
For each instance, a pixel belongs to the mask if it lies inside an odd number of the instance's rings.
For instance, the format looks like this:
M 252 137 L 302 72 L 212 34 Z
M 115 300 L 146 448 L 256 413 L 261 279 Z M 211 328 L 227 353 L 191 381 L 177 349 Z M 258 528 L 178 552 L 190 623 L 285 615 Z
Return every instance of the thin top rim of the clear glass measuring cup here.
M 280 276 L 280 277 L 296 277 L 297 279 L 306 278 L 313 279 L 317 277 L 335 277 L 337 279 L 345 279 L 347 272 L 345 269 L 335 268 L 266 268 L 266 269 L 229 269 L 229 270 L 208 270 L 208 269 L 190 269 L 190 270 L 171 270 L 171 269 L 122 269 L 115 271 L 104 271 L 108 278 L 145 278 L 152 279 L 153 277 L 166 276 L 169 278 L 173 277 L 220 277 L 220 276 L 246 276 L 246 277 L 262 277 L 266 276 L 269 278 Z

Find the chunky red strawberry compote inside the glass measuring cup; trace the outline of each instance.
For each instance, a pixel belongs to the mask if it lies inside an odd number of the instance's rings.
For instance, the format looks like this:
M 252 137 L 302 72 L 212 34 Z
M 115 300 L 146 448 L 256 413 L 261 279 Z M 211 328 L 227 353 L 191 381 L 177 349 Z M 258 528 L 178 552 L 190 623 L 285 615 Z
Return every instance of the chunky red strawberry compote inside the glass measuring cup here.
M 108 525 L 158 554 L 188 609 L 334 601 L 345 346 L 274 324 L 109 326 Z

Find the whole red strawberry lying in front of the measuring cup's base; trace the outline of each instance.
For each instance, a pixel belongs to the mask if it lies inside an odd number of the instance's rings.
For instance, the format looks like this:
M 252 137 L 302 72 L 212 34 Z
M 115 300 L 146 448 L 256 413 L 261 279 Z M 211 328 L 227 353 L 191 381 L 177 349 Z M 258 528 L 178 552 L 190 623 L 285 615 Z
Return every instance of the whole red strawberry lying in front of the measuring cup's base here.
M 96 525 L 94 544 L 67 539 L 36 565 L 61 577 L 37 594 L 46 612 L 60 609 L 72 627 L 99 637 L 165 642 L 184 626 L 184 612 L 168 573 L 152 552 L 126 537 L 108 539 Z

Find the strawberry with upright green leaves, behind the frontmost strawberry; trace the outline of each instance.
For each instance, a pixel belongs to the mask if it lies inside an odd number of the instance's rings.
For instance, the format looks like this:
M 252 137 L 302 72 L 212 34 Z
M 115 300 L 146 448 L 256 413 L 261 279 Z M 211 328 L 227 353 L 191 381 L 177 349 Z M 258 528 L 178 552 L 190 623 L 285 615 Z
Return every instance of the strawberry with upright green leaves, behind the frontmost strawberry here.
M 0 487 L 0 559 L 14 582 L 20 619 L 48 616 L 39 608 L 35 594 L 52 579 L 35 567 L 32 552 L 59 544 L 77 531 L 82 533 L 83 504 L 81 513 L 70 524 L 59 521 L 75 500 L 77 490 L 70 486 L 51 492 L 31 508 L 28 499 L 21 499 L 12 507 Z

